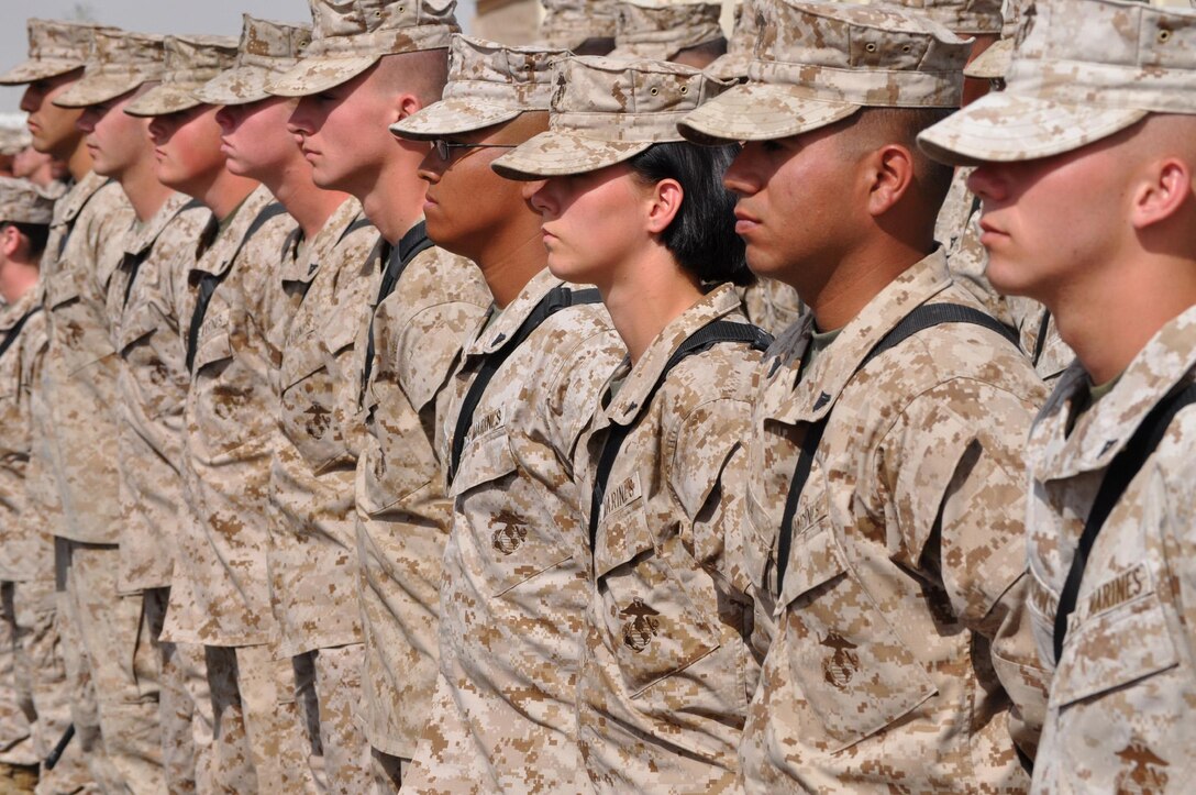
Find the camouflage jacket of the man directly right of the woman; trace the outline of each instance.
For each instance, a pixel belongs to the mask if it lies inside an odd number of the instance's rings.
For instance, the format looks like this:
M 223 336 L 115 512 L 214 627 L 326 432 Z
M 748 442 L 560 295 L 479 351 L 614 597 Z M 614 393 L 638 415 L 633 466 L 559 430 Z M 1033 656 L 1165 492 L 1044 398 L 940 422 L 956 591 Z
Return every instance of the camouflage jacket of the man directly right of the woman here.
M 749 791 L 1029 783 L 1014 742 L 1032 756 L 1046 677 L 1025 609 L 1021 455 L 1043 387 L 1020 350 L 970 324 L 921 331 L 853 375 L 926 302 L 980 307 L 936 252 L 873 298 L 800 380 L 810 316 L 765 359 L 733 571 L 768 649 L 742 746 Z M 779 586 L 798 450 L 832 410 Z

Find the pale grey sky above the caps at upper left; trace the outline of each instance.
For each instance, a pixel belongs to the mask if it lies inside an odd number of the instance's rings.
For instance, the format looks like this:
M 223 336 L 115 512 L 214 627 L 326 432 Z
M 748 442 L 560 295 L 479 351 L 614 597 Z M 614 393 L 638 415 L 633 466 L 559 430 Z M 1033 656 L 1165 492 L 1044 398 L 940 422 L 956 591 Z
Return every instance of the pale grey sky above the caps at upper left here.
M 240 33 L 240 16 L 250 13 L 280 22 L 311 22 L 306 0 L 0 0 L 0 71 L 25 60 L 29 38 L 25 19 L 96 22 L 147 33 Z M 468 30 L 474 0 L 458 0 L 457 18 Z M 0 114 L 16 111 L 22 88 L 0 86 Z

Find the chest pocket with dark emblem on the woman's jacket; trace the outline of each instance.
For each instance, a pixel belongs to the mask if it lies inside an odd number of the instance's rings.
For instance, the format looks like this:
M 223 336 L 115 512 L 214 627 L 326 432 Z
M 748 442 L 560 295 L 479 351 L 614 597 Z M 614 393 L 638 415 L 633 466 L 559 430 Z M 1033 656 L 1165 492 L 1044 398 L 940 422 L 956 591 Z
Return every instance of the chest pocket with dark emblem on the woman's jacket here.
M 719 648 L 719 636 L 690 593 L 697 562 L 676 534 L 659 546 L 654 542 L 640 476 L 612 483 L 604 502 L 611 509 L 594 550 L 597 611 L 628 695 L 655 701 L 649 689 Z M 702 603 L 718 604 L 713 587 L 708 591 Z M 737 673 L 726 673 L 721 684 L 733 685 Z

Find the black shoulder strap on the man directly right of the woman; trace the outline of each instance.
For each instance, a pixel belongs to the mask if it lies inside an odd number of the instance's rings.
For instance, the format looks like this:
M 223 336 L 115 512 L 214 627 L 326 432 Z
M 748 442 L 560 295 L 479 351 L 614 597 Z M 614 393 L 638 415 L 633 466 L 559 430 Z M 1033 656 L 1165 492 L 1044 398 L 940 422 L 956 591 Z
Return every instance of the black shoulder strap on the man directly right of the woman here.
M 896 348 L 914 335 L 926 329 L 932 329 L 944 323 L 970 323 L 990 331 L 995 331 L 1014 347 L 1018 347 L 1018 334 L 993 316 L 970 306 L 958 304 L 922 304 L 914 308 L 902 320 L 895 325 L 889 334 L 880 338 L 864 361 L 855 368 L 852 377 L 864 369 L 873 359 Z M 831 408 L 834 411 L 834 406 Z M 781 593 L 785 583 L 785 569 L 789 564 L 789 548 L 793 545 L 793 516 L 798 512 L 798 502 L 801 501 L 801 493 L 810 479 L 810 470 L 813 466 L 814 453 L 826 432 L 826 423 L 830 421 L 831 411 L 828 411 L 822 420 L 812 422 L 806 428 L 806 436 L 801 440 L 801 450 L 798 452 L 798 465 L 793 471 L 793 481 L 789 484 L 789 493 L 785 497 L 785 510 L 781 514 L 781 536 L 777 539 L 776 549 L 776 592 Z

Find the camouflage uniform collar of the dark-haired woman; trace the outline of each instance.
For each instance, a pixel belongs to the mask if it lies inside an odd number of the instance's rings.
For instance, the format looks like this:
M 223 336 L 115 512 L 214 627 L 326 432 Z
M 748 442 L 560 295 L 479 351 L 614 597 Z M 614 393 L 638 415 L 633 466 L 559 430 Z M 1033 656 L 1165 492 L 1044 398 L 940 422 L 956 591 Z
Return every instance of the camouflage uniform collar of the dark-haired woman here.
M 606 417 L 621 426 L 635 422 L 647 408 L 652 389 L 660 380 L 665 365 L 682 343 L 702 326 L 739 311 L 739 295 L 734 288 L 731 285 L 721 285 L 673 318 L 647 347 L 635 367 L 631 367 L 630 359 L 624 359 L 620 363 L 611 379 L 626 377 L 627 380 L 606 406 L 604 411 Z M 603 390 L 603 396 L 609 390 L 610 381 Z

